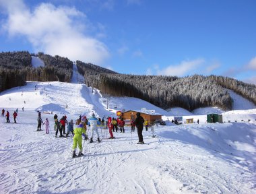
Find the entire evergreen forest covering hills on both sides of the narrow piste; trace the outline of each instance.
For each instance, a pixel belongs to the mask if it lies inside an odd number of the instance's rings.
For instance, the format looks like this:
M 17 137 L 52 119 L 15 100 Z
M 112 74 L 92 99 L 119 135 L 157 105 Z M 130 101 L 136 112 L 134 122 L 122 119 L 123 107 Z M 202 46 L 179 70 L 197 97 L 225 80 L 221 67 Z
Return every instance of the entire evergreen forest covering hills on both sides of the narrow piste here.
M 32 56 L 41 59 L 44 66 L 32 67 Z M 141 98 L 161 108 L 179 106 L 194 110 L 218 106 L 232 110 L 233 102 L 227 89 L 256 104 L 256 86 L 230 77 L 126 75 L 82 61 L 76 61 L 76 65 L 85 77 L 85 84 L 98 88 L 103 94 Z M 0 91 L 24 86 L 26 81 L 71 82 L 72 69 L 73 62 L 65 57 L 27 51 L 0 53 Z

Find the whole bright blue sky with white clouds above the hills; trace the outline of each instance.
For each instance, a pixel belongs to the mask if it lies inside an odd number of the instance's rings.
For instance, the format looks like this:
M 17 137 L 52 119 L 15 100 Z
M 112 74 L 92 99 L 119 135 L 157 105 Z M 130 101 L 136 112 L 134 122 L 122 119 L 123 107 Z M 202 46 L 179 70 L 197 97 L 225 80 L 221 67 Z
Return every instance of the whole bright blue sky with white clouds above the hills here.
M 0 51 L 256 84 L 255 0 L 0 0 Z

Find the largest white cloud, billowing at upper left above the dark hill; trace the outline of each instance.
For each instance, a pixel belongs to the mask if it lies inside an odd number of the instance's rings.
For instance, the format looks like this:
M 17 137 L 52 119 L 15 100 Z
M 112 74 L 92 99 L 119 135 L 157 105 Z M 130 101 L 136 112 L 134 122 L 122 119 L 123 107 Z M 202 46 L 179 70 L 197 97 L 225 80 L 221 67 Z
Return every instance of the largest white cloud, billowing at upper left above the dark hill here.
M 5 30 L 10 36 L 25 36 L 35 52 L 96 65 L 101 65 L 110 56 L 104 43 L 88 35 L 91 24 L 86 21 L 86 15 L 74 7 L 41 3 L 30 11 L 22 0 L 1 0 L 0 5 L 8 14 Z

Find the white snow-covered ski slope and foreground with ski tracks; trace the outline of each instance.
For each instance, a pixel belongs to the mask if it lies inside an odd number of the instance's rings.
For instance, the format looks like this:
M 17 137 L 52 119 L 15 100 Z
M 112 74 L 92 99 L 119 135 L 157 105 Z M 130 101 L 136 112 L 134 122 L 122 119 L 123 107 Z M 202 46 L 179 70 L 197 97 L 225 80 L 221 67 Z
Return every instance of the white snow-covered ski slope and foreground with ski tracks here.
M 0 193 L 256 193 L 255 105 L 241 98 L 230 112 L 199 108 L 192 113 L 166 111 L 137 98 L 108 100 L 107 109 L 100 91 L 60 82 L 28 82 L 1 92 L 0 108 L 10 112 L 11 123 L 0 117 Z M 108 130 L 99 128 L 102 142 L 96 143 L 96 136 L 95 143 L 83 140 L 84 156 L 71 158 L 72 137 L 55 138 L 55 113 L 75 121 L 79 115 L 117 117 L 117 110 L 141 108 L 162 114 L 167 124 L 154 126 L 154 138 L 151 128 L 143 129 L 144 145 L 136 144 L 131 127 L 115 132 L 116 139 L 107 139 Z M 44 125 L 36 131 L 37 110 L 43 121 L 49 119 L 49 134 Z M 205 123 L 207 112 L 214 111 L 230 123 Z M 180 115 L 199 124 L 167 120 Z

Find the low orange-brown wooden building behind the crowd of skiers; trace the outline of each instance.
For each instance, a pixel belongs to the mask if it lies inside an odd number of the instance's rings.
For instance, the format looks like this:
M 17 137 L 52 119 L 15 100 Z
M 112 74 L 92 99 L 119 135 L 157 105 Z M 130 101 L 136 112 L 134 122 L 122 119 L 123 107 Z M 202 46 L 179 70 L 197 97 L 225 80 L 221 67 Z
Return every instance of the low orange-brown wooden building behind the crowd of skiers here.
M 141 117 L 143 117 L 144 120 L 148 119 L 150 123 L 153 123 L 156 120 L 162 120 L 162 115 L 148 114 L 146 112 L 140 112 L 137 110 L 128 110 L 126 112 L 122 112 L 122 117 L 124 120 L 129 120 L 129 121 L 131 121 L 132 119 L 135 120 L 137 118 L 136 116 L 137 112 L 140 113 Z

